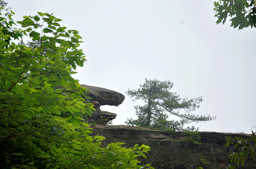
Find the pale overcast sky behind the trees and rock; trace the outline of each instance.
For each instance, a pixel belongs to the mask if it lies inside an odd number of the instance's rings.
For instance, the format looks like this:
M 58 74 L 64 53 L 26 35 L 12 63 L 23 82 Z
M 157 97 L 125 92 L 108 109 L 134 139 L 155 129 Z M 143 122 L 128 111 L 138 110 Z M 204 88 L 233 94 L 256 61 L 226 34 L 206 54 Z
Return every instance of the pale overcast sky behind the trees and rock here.
M 47 12 L 79 31 L 87 62 L 73 77 L 126 97 L 117 107 L 101 106 L 117 114 L 113 125 L 136 118 L 142 101 L 126 92 L 147 78 L 174 83 L 182 98 L 202 96 L 193 113 L 217 118 L 194 124 L 199 131 L 250 134 L 256 126 L 256 28 L 217 25 L 214 0 L 5 1 L 14 21 Z

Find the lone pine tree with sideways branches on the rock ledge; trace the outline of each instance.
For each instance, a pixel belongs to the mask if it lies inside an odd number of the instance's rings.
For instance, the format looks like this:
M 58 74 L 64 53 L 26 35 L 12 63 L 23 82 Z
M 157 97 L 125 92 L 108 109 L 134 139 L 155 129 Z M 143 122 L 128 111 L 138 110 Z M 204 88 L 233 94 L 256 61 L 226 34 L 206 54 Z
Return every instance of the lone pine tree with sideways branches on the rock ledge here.
M 177 93 L 171 92 L 173 83 L 169 81 L 147 80 L 137 90 L 128 90 L 126 93 L 135 98 L 133 101 L 142 99 L 144 105 L 134 106 L 137 120 L 127 119 L 127 124 L 153 127 L 156 129 L 172 129 L 176 131 L 193 131 L 193 126 L 185 128 L 184 125 L 191 122 L 205 122 L 214 120 L 216 117 L 209 115 L 193 115 L 192 112 L 199 107 L 202 97 L 187 99 L 180 98 Z M 185 113 L 181 113 L 184 110 Z M 180 117 L 180 121 L 168 120 L 169 115 Z

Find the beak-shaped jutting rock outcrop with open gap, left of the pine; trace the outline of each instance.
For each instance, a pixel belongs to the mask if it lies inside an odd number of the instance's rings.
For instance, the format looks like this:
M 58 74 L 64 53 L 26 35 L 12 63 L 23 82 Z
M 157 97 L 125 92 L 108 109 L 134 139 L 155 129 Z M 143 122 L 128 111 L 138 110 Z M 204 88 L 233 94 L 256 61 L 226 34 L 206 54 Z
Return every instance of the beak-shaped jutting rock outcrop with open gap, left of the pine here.
M 86 87 L 89 92 L 89 97 L 92 98 L 90 101 L 92 102 L 92 104 L 94 104 L 94 108 L 96 109 L 96 111 L 92 112 L 91 117 L 87 117 L 88 123 L 107 124 L 109 121 L 116 118 L 117 115 L 115 113 L 101 111 L 100 106 L 120 105 L 125 99 L 123 94 L 101 87 L 88 86 L 83 84 L 81 85 L 81 87 Z

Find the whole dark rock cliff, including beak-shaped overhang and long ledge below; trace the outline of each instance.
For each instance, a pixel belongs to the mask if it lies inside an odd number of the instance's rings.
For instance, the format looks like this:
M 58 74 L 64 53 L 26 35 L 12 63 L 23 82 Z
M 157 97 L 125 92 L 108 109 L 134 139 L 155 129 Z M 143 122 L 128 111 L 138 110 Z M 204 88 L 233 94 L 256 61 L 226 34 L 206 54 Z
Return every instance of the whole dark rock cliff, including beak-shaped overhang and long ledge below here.
M 89 123 L 96 123 L 92 136 L 103 135 L 106 140 L 102 141 L 102 146 L 107 146 L 111 142 L 124 142 L 125 147 L 133 147 L 135 144 L 145 144 L 151 147 L 151 151 L 146 154 L 147 159 L 139 158 L 143 164 L 152 164 L 155 169 L 224 169 L 229 166 L 228 156 L 234 151 L 233 147 L 226 147 L 226 136 L 249 137 L 249 134 L 199 132 L 201 143 L 194 144 L 192 141 L 185 141 L 188 137 L 181 133 L 170 135 L 161 130 L 151 130 L 142 127 L 132 126 L 105 126 L 114 118 L 116 114 L 101 111 L 101 105 L 118 106 L 124 100 L 121 93 L 94 86 L 81 85 L 89 90 L 91 102 L 96 111 L 88 117 Z M 103 124 L 103 125 L 102 125 Z M 242 168 L 250 169 L 245 162 Z

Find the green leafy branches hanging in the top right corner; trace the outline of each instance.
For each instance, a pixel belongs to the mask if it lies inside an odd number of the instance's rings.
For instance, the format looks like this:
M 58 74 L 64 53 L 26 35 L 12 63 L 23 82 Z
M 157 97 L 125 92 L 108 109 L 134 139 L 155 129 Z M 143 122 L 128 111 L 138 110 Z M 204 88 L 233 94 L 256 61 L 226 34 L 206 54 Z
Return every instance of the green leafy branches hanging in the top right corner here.
M 256 0 L 220 0 L 214 2 L 217 24 L 225 23 L 230 18 L 231 27 L 238 29 L 249 26 L 256 28 Z

